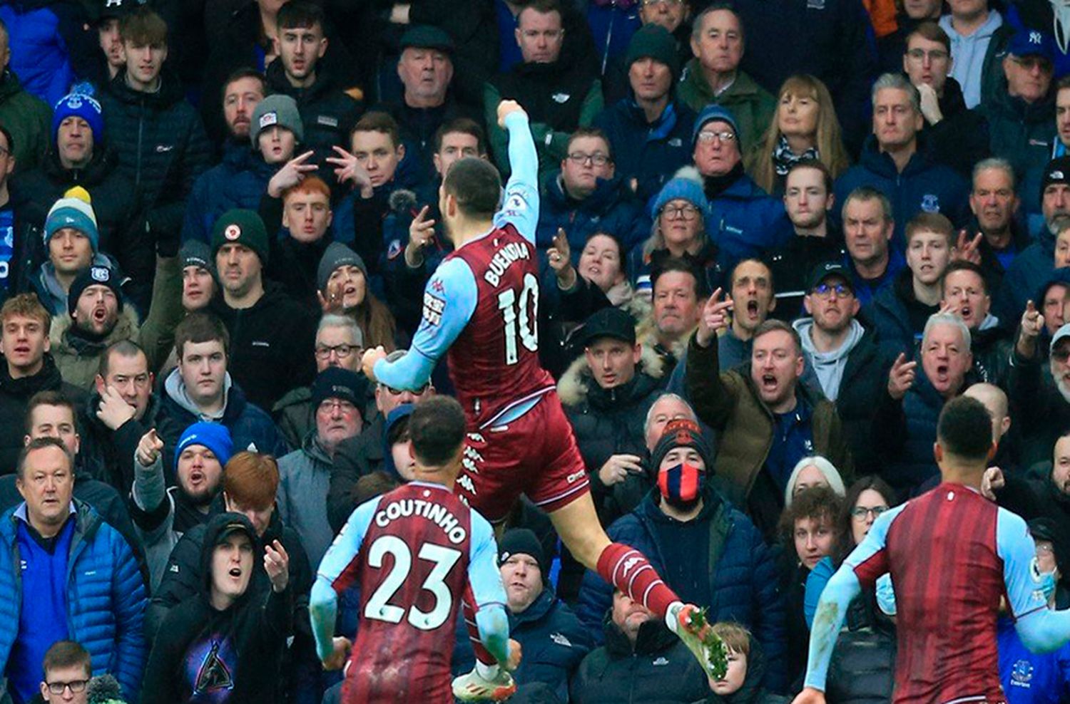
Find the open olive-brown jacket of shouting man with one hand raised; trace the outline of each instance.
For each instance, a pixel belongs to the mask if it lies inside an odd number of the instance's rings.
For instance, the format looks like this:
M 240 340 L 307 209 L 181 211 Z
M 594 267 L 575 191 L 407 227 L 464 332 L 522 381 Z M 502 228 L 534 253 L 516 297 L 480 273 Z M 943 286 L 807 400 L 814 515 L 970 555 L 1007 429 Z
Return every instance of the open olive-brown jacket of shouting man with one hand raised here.
M 724 496 L 747 507 L 767 535 L 775 529 L 783 505 L 783 488 L 774 487 L 762 467 L 773 447 L 773 411 L 750 379 L 750 365 L 718 372 L 717 345 L 700 347 L 696 337 L 687 350 L 687 395 L 699 420 L 720 433 L 714 475 Z M 814 454 L 826 457 L 840 471 L 843 483 L 854 480 L 854 461 L 840 417 L 832 402 L 814 395 L 806 385 L 795 387 L 813 409 L 810 417 Z

